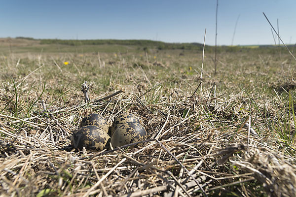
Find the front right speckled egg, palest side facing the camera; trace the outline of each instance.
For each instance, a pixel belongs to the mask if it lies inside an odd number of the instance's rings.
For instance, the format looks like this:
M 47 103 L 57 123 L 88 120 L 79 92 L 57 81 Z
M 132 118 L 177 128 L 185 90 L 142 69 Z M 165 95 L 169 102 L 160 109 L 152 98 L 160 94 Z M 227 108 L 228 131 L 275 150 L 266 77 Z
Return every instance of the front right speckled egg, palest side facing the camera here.
M 112 137 L 111 144 L 113 147 L 123 146 L 146 139 L 147 133 L 144 127 L 137 122 L 128 122 L 118 124 Z M 133 148 L 133 147 L 131 147 Z

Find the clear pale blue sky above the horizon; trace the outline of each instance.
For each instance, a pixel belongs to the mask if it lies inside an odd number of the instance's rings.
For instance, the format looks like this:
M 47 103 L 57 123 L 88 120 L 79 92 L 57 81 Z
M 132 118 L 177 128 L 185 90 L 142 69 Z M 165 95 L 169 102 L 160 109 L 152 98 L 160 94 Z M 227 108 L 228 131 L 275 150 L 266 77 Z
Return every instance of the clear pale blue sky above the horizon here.
M 216 0 L 0 0 L 0 37 L 215 44 Z M 296 0 L 219 0 L 219 45 L 296 43 Z

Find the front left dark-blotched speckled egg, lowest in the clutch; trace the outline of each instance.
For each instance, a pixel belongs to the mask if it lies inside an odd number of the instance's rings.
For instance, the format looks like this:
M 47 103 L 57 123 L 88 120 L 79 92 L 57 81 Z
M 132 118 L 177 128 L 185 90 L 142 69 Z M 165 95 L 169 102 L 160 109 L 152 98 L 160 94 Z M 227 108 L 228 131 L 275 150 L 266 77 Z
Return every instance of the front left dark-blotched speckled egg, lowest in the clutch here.
M 71 136 L 71 143 L 79 151 L 83 147 L 86 150 L 101 151 L 110 146 L 110 136 L 99 127 L 83 126 L 74 131 Z

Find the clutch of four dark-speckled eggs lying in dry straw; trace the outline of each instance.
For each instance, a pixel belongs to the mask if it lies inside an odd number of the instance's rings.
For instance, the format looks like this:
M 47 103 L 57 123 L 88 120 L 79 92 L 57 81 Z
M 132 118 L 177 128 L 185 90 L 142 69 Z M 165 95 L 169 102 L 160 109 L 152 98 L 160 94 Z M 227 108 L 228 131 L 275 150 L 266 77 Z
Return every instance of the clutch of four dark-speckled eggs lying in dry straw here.
M 110 147 L 110 142 L 113 147 L 117 147 L 143 141 L 146 137 L 144 127 L 134 114 L 120 114 L 114 118 L 109 129 L 107 120 L 102 115 L 93 113 L 82 119 L 79 129 L 71 136 L 71 144 L 79 151 L 83 147 L 86 150 L 102 151 Z

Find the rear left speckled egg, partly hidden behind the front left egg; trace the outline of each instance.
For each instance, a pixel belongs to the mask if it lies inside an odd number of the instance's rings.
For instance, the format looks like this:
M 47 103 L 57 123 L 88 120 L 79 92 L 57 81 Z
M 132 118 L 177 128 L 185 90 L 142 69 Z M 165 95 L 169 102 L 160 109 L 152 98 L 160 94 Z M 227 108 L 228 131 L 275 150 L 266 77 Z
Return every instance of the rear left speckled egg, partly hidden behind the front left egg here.
M 83 127 L 83 126 L 87 126 L 87 125 L 96 126 L 100 129 L 102 129 L 104 132 L 108 133 L 108 128 L 109 128 L 108 122 L 100 114 L 89 114 L 89 115 L 85 116 L 82 119 L 79 127 Z

